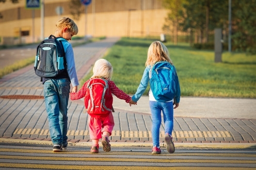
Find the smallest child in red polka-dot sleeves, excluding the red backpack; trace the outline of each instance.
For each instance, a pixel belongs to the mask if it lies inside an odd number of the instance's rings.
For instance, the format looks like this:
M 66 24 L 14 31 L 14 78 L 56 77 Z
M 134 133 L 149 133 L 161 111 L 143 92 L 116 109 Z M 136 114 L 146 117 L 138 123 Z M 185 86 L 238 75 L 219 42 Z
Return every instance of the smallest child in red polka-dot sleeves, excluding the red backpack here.
M 131 97 L 128 96 L 125 92 L 120 90 L 114 82 L 111 80 L 113 74 L 113 68 L 109 61 L 106 59 L 99 59 L 95 62 L 93 68 L 93 76 L 87 80 L 80 90 L 77 93 L 71 93 L 70 99 L 77 100 L 84 98 L 87 95 L 87 85 L 88 83 L 95 78 L 101 78 L 108 81 L 109 88 L 111 89 L 111 93 L 114 94 L 117 98 L 125 100 L 129 103 Z M 112 104 L 112 103 L 111 103 Z M 103 146 L 103 150 L 105 152 L 111 151 L 109 136 L 112 134 L 112 130 L 114 128 L 114 119 L 112 112 L 107 115 L 99 116 L 98 113 L 88 114 L 88 125 L 90 131 L 90 138 L 93 142 L 91 147 L 91 153 L 98 153 L 99 151 L 99 139 L 101 139 L 101 143 Z

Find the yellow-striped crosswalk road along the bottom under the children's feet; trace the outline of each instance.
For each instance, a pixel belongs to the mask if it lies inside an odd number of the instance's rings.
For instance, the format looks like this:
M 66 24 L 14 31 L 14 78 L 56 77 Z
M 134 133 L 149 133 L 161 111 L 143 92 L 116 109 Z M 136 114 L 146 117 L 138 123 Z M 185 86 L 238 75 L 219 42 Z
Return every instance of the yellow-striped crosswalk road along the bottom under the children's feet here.
M 0 144 L 0 170 L 256 170 L 256 151 L 178 148 L 169 154 L 162 148 L 152 155 L 151 147 L 112 147 L 91 154 L 90 146 L 70 146 L 53 153 L 52 146 Z

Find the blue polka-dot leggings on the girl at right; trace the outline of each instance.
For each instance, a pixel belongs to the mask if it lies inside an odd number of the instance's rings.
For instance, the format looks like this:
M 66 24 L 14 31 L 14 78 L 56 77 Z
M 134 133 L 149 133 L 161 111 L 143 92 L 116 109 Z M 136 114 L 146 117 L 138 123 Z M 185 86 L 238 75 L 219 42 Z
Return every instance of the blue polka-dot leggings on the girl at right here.
M 161 111 L 163 113 L 164 132 L 172 134 L 173 131 L 173 102 L 149 101 L 152 115 L 152 140 L 153 146 L 160 146 L 159 135 L 161 126 Z

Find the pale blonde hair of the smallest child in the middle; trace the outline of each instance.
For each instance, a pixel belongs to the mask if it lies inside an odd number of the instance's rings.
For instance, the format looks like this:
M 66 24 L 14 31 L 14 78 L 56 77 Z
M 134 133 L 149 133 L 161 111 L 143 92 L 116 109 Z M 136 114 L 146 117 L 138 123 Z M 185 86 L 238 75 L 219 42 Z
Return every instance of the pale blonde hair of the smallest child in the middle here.
M 111 79 L 113 68 L 109 61 L 106 59 L 98 59 L 93 67 L 93 76 L 91 78 L 105 78 Z

